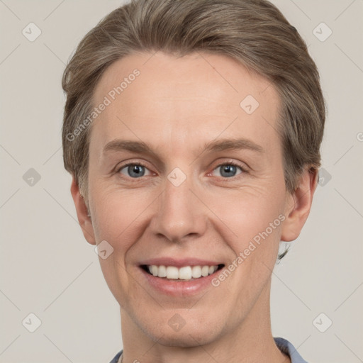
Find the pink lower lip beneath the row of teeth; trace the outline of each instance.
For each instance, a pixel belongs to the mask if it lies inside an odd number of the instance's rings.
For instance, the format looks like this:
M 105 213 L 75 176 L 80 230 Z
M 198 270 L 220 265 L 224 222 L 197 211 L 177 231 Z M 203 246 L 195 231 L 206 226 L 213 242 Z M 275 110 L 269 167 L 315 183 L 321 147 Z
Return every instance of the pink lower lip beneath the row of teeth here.
M 176 281 L 155 277 L 154 275 L 148 274 L 143 268 L 139 268 L 152 288 L 162 294 L 171 296 L 191 296 L 200 293 L 208 287 L 213 287 L 211 281 L 216 277 L 216 274 L 220 273 L 220 270 L 217 270 L 213 274 L 206 277 L 199 277 L 199 279 Z

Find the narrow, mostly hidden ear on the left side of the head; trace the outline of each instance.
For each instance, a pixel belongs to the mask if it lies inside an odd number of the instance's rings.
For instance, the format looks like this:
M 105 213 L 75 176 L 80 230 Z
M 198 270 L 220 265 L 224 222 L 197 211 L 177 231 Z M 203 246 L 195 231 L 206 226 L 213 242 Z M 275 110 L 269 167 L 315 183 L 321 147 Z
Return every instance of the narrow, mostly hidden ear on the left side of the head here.
M 94 228 L 92 225 L 91 217 L 88 216 L 88 209 L 84 198 L 79 192 L 79 186 L 74 177 L 72 177 L 71 194 L 76 206 L 77 218 L 79 225 L 82 228 L 82 232 L 86 241 L 91 245 L 96 245 L 96 238 L 94 238 Z

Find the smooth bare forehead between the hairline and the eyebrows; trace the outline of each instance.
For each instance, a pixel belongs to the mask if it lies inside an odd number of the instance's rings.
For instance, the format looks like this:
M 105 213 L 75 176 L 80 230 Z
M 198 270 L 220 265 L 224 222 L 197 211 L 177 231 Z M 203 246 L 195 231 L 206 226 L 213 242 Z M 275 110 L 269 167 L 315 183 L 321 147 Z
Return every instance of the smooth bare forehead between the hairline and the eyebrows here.
M 100 150 L 114 138 L 173 152 L 218 137 L 279 147 L 276 89 L 225 55 L 129 55 L 106 69 L 93 101 L 108 104 L 91 125 L 91 145 Z

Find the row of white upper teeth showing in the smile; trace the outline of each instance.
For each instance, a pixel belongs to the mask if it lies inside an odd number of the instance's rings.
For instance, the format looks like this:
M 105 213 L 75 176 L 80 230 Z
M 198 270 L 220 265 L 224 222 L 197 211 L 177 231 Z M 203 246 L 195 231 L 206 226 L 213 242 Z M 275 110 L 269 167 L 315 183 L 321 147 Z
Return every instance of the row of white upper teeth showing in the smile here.
M 167 279 L 181 279 L 190 280 L 192 277 L 198 279 L 203 276 L 206 277 L 213 272 L 216 272 L 218 265 L 216 266 L 184 266 L 178 269 L 175 266 L 156 266 L 155 264 L 147 265 L 150 274 L 157 277 L 166 277 Z

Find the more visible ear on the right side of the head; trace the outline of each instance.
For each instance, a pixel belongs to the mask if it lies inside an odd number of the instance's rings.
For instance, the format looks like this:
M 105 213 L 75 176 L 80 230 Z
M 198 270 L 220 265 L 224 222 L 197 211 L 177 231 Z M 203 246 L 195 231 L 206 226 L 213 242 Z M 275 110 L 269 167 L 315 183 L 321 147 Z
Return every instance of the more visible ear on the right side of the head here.
M 308 218 L 313 195 L 318 185 L 318 169 L 306 168 L 301 174 L 294 193 L 286 198 L 285 220 L 281 240 L 291 242 L 298 238 Z

